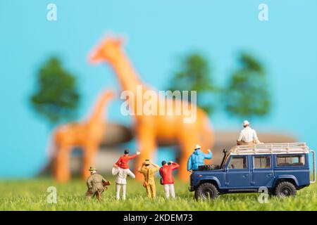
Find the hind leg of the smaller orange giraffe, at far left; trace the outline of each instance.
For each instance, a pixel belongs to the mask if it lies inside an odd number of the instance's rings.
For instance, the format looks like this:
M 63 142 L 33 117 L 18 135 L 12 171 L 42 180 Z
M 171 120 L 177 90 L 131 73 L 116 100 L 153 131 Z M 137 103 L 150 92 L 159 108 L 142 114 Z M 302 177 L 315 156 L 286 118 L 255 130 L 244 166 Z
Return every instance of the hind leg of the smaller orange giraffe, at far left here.
M 70 146 L 61 144 L 58 148 L 55 165 L 54 176 L 58 181 L 66 182 L 70 179 Z

